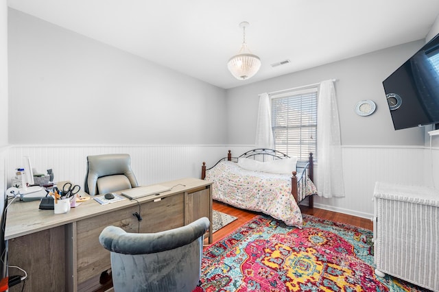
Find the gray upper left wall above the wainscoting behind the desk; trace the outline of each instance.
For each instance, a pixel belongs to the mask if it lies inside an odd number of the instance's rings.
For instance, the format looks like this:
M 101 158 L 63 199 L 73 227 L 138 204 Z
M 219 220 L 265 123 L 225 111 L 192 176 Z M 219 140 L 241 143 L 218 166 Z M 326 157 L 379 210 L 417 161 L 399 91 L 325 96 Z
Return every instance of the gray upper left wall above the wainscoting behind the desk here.
M 222 88 L 12 9 L 9 51 L 10 144 L 226 141 Z

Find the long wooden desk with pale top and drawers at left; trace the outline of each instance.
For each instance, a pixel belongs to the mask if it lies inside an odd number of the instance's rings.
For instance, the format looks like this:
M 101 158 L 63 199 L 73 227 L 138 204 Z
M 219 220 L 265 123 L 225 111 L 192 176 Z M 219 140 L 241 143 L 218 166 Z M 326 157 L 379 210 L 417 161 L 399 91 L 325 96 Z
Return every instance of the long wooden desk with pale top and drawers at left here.
M 86 291 L 82 283 L 99 279 L 111 267 L 110 252 L 98 239 L 106 226 L 158 232 L 208 217 L 212 243 L 212 183 L 185 178 L 160 184 L 171 191 L 143 197 L 139 203 L 124 199 L 100 205 L 90 199 L 66 214 L 39 210 L 39 201 L 11 204 L 5 227 L 8 262 L 27 271 L 25 291 Z M 134 217 L 136 212 L 142 221 Z M 21 284 L 10 291 L 21 291 Z

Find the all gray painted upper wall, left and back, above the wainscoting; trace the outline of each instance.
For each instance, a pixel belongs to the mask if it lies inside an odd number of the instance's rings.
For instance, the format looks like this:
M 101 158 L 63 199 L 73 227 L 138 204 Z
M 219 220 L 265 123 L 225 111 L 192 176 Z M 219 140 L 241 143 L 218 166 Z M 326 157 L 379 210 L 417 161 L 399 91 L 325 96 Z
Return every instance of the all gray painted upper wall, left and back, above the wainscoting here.
M 11 144 L 253 145 L 259 93 L 335 78 L 343 145 L 425 145 L 393 129 L 381 83 L 423 40 L 223 90 L 11 9 L 9 32 Z

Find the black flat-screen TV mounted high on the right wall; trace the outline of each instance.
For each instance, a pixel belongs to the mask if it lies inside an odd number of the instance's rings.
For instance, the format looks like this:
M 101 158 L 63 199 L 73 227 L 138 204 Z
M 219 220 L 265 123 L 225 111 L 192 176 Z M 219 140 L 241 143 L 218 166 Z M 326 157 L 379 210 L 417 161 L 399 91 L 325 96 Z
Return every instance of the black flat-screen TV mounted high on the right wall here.
M 383 86 L 395 130 L 439 123 L 439 34 Z

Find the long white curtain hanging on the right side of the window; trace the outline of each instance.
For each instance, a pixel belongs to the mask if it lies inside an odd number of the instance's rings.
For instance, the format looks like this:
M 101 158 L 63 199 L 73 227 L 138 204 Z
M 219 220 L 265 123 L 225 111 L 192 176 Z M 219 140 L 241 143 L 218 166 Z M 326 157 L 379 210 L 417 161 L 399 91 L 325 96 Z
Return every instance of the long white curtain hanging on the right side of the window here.
M 320 83 L 317 125 L 318 195 L 344 197 L 340 121 L 333 80 Z

